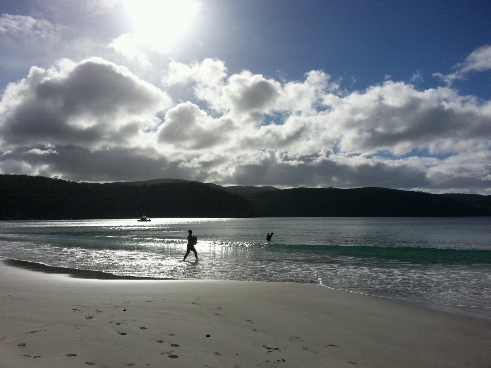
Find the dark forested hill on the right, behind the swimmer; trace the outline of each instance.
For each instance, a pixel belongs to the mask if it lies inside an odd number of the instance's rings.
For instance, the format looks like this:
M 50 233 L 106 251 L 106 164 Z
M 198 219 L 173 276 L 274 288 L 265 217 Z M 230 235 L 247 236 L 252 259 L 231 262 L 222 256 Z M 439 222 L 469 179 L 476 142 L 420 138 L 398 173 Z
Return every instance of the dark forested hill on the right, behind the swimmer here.
M 263 216 L 491 215 L 491 207 L 478 206 L 454 197 L 387 188 L 295 188 L 257 193 L 251 199 Z

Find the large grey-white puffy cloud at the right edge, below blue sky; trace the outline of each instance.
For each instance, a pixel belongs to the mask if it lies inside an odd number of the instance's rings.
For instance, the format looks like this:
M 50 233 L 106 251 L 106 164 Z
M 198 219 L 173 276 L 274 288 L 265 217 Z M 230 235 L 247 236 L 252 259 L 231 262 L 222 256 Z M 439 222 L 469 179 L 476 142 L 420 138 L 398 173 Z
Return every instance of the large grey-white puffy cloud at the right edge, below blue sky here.
M 467 142 L 489 139 L 491 104 L 459 96 L 455 90 L 424 91 L 403 82 L 385 82 L 345 97 L 329 94 L 327 119 L 342 151 L 390 151 L 395 155 L 428 149 L 454 138 Z M 331 118 L 331 119 L 329 119 Z M 462 147 L 461 147 L 462 149 Z M 456 151 L 448 146 L 448 151 Z

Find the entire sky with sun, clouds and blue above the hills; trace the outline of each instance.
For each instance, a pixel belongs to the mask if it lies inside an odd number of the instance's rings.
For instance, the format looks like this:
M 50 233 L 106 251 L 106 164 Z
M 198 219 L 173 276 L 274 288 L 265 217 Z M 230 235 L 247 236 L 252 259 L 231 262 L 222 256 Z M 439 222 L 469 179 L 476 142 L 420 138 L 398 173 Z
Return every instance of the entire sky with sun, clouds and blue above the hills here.
M 0 174 L 491 194 L 489 0 L 0 0 Z

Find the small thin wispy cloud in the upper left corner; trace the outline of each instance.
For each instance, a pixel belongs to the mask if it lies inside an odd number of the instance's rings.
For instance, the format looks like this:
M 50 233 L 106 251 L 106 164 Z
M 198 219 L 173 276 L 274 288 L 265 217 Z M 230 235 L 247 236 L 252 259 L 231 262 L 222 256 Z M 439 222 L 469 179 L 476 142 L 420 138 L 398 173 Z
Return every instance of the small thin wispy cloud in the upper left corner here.
M 28 15 L 2 14 L 0 16 L 1 33 L 47 37 L 62 29 L 62 26 L 55 25 L 46 19 L 35 19 Z

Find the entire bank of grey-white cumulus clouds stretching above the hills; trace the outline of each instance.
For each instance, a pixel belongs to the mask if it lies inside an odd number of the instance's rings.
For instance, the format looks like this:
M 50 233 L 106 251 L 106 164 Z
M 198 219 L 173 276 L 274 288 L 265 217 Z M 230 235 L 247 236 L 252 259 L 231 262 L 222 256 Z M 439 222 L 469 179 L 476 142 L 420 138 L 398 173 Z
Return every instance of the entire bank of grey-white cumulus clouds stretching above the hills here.
M 448 86 L 421 90 L 386 80 L 349 92 L 324 71 L 279 81 L 231 74 L 217 59 L 171 60 L 162 87 L 177 85 L 191 88 L 193 102 L 173 103 L 99 58 L 33 67 L 0 103 L 0 172 L 278 187 L 491 187 L 491 102 Z

